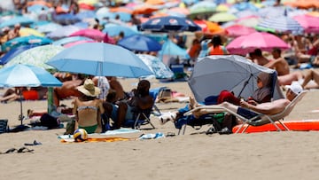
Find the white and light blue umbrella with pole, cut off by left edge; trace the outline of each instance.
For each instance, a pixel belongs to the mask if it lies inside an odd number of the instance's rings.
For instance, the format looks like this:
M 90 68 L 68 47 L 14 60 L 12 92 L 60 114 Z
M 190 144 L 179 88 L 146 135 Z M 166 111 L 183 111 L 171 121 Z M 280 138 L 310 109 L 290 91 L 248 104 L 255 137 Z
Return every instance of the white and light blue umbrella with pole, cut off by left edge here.
M 41 67 L 17 64 L 0 69 L 0 87 L 55 87 L 62 86 L 56 77 Z M 22 94 L 20 94 L 19 121 L 23 124 Z

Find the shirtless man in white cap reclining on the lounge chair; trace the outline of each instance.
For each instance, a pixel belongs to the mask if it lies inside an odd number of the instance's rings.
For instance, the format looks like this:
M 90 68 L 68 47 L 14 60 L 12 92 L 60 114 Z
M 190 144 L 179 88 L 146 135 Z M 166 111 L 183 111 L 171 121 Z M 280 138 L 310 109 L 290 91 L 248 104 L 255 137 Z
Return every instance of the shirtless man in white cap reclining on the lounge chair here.
M 293 82 L 286 92 L 286 98 L 281 98 L 274 100 L 272 102 L 261 103 L 257 105 L 252 105 L 245 101 L 241 101 L 240 106 L 232 105 L 228 102 L 223 102 L 220 106 L 227 107 L 228 109 L 230 109 L 230 111 L 237 112 L 238 114 L 242 115 L 247 119 L 253 118 L 254 116 L 258 115 L 257 113 L 273 115 L 284 111 L 284 108 L 288 106 L 289 103 L 291 103 L 292 100 L 296 98 L 301 91 L 302 87 L 300 86 L 300 84 L 298 82 Z M 251 110 L 257 113 L 254 113 Z M 209 113 L 209 110 L 199 109 L 198 111 L 195 111 L 193 114 L 195 116 L 200 116 L 206 113 Z

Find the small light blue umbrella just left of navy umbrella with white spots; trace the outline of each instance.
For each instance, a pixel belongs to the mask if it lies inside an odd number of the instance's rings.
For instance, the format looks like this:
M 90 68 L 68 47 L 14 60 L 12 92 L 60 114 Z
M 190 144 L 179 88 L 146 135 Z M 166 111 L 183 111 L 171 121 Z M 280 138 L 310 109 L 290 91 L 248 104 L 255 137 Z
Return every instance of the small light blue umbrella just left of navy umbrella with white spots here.
M 102 32 L 110 36 L 119 35 L 121 32 L 124 33 L 124 36 L 140 34 L 134 27 L 121 26 L 113 23 L 106 24 Z

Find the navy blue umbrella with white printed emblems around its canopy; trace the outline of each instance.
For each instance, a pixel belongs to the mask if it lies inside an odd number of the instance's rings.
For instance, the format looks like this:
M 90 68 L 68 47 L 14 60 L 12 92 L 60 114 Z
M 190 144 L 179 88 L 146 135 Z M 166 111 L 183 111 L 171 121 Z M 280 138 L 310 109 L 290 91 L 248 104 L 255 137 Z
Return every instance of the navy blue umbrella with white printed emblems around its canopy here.
M 152 18 L 141 24 L 141 30 L 158 32 L 169 31 L 198 31 L 201 28 L 192 20 L 175 16 Z

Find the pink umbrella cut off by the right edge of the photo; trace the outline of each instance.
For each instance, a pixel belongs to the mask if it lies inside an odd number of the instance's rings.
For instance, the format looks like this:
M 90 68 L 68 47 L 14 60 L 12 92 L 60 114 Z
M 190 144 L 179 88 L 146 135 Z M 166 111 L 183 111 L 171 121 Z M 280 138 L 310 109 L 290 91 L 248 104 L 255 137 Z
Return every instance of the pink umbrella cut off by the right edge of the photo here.
M 306 33 L 319 33 L 319 18 L 309 15 L 298 15 L 292 17 L 297 20 L 301 27 L 305 28 Z

